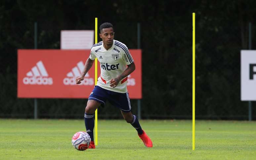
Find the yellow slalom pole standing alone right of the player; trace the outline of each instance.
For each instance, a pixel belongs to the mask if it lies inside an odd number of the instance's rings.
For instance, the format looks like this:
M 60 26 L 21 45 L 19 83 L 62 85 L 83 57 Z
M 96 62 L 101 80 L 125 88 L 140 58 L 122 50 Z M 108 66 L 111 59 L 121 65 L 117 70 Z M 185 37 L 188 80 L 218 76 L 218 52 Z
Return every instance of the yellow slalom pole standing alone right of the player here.
M 192 42 L 192 150 L 195 150 L 195 13 L 193 17 L 193 42 Z

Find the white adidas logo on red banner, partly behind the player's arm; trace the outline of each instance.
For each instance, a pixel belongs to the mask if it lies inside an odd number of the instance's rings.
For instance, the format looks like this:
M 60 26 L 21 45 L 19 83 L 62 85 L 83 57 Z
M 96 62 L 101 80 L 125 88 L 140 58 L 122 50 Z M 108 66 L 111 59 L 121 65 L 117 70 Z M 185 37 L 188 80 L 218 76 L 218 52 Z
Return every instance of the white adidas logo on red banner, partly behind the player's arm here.
M 75 83 L 76 77 L 79 77 L 84 69 L 84 63 L 82 61 L 79 61 L 75 67 L 71 69 L 71 72 L 68 72 L 66 74 L 66 77 L 63 79 L 64 85 L 77 85 Z M 87 72 L 84 76 L 84 80 L 82 81 L 81 85 L 94 85 L 94 79 L 89 78 L 89 73 Z

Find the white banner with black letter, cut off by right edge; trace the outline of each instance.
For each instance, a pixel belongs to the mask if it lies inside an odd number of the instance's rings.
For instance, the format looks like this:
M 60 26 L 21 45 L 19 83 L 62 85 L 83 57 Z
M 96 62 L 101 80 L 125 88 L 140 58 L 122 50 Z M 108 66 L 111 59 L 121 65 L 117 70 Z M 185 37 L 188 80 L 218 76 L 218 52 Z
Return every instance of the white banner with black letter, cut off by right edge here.
M 256 50 L 241 50 L 241 100 L 256 100 Z

